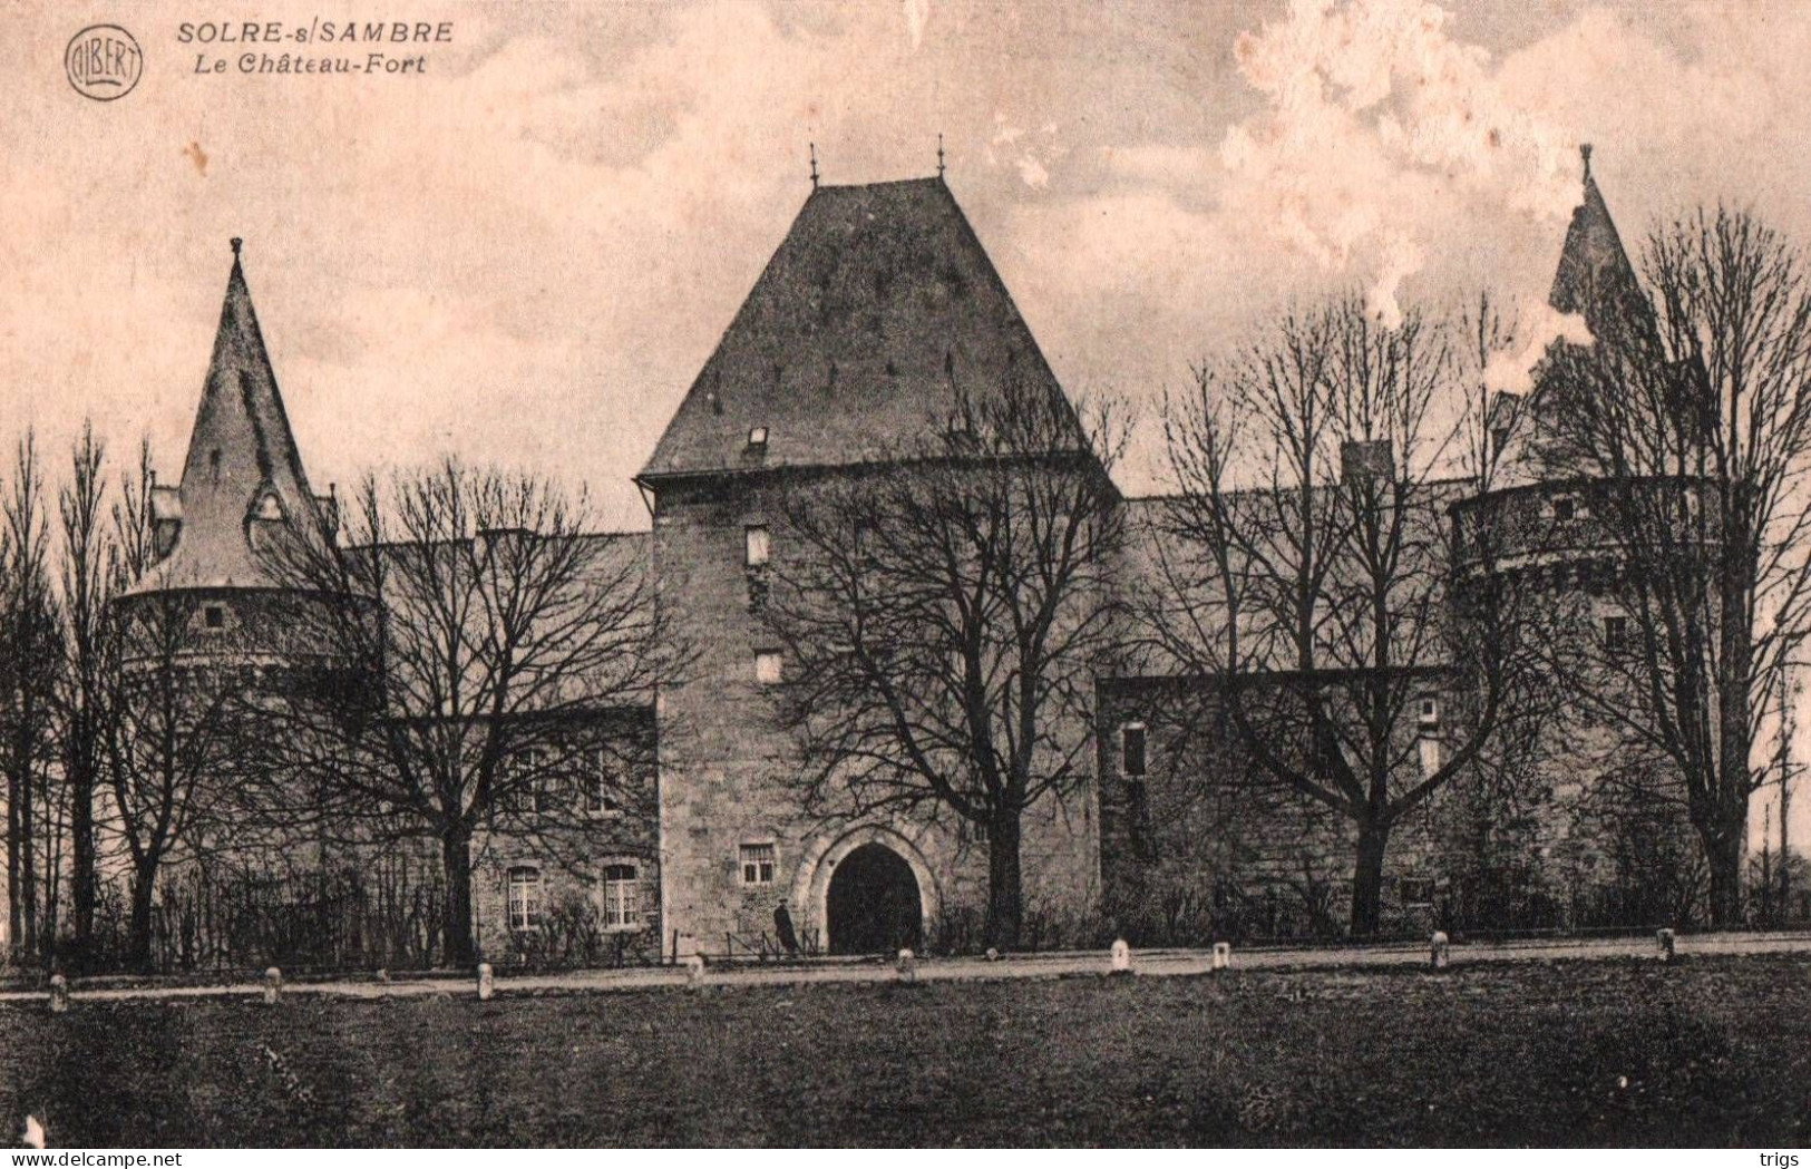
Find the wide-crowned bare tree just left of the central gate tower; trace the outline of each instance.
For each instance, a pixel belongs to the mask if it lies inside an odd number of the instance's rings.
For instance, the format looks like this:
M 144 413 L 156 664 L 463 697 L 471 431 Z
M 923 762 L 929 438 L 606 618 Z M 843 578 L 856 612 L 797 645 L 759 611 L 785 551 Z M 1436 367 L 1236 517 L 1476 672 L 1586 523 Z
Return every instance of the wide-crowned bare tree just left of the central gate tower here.
M 648 706 L 683 661 L 639 541 L 587 530 L 585 498 L 447 461 L 375 480 L 344 532 L 302 528 L 270 561 L 317 668 L 268 688 L 266 813 L 348 843 L 431 836 L 446 870 L 447 959 L 474 959 L 473 841 L 534 832 L 574 785 L 625 800 L 612 715 Z M 563 794 L 561 794 L 563 793 Z

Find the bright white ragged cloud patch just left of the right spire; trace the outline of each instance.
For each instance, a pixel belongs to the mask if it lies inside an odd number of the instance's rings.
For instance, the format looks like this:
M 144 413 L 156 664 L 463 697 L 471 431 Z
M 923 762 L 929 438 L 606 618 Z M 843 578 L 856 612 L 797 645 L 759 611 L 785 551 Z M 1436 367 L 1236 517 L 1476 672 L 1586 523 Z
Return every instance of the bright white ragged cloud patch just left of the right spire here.
M 1333 273 L 1369 280 L 1382 318 L 1427 262 L 1442 204 L 1565 223 L 1570 136 L 1505 98 L 1490 54 L 1420 0 L 1295 0 L 1235 42 L 1264 107 L 1221 141 L 1226 203 Z

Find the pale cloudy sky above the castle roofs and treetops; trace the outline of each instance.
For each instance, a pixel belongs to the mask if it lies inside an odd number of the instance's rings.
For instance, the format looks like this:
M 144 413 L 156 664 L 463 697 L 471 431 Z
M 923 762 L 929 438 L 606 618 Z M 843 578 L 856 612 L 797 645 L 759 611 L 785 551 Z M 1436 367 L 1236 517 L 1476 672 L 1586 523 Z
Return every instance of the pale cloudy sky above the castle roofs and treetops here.
M 317 490 L 456 454 L 645 527 L 630 480 L 810 194 L 813 145 L 824 183 L 864 183 L 934 174 L 942 134 L 1063 385 L 1139 413 L 1132 492 L 1164 483 L 1163 394 L 1291 302 L 1489 288 L 1532 317 L 1581 141 L 1632 244 L 1717 201 L 1811 241 L 1806 4 L 388 7 L 451 24 L 377 45 L 420 72 L 243 74 L 248 45 L 183 42 L 192 4 L 7 5 L 0 440 L 31 427 L 54 454 L 91 418 L 174 478 L 237 235 Z M 145 60 L 105 103 L 63 69 L 103 22 Z

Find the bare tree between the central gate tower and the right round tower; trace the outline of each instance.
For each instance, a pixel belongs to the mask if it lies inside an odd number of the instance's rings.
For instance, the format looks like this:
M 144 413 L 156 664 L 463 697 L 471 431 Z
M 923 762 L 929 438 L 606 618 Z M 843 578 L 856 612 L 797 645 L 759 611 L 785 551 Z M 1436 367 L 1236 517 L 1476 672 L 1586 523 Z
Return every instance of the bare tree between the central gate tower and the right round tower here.
M 1510 581 L 1447 572 L 1445 510 L 1481 485 L 1438 478 L 1463 461 L 1461 369 L 1440 324 L 1340 300 L 1204 367 L 1166 416 L 1148 635 L 1224 689 L 1262 775 L 1353 823 L 1358 936 L 1391 831 L 1480 758 L 1525 657 Z

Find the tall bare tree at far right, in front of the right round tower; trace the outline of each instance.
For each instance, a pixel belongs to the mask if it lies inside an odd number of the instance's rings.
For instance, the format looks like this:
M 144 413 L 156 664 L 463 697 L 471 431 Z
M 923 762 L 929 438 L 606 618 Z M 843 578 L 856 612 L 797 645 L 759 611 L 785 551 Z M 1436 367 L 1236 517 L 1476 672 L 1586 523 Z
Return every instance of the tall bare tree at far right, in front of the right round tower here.
M 1811 288 L 1797 244 L 1724 208 L 1655 232 L 1643 273 L 1595 344 L 1552 360 L 1554 461 L 1617 543 L 1624 610 L 1556 662 L 1576 702 L 1677 769 L 1728 925 L 1769 695 L 1811 632 Z

